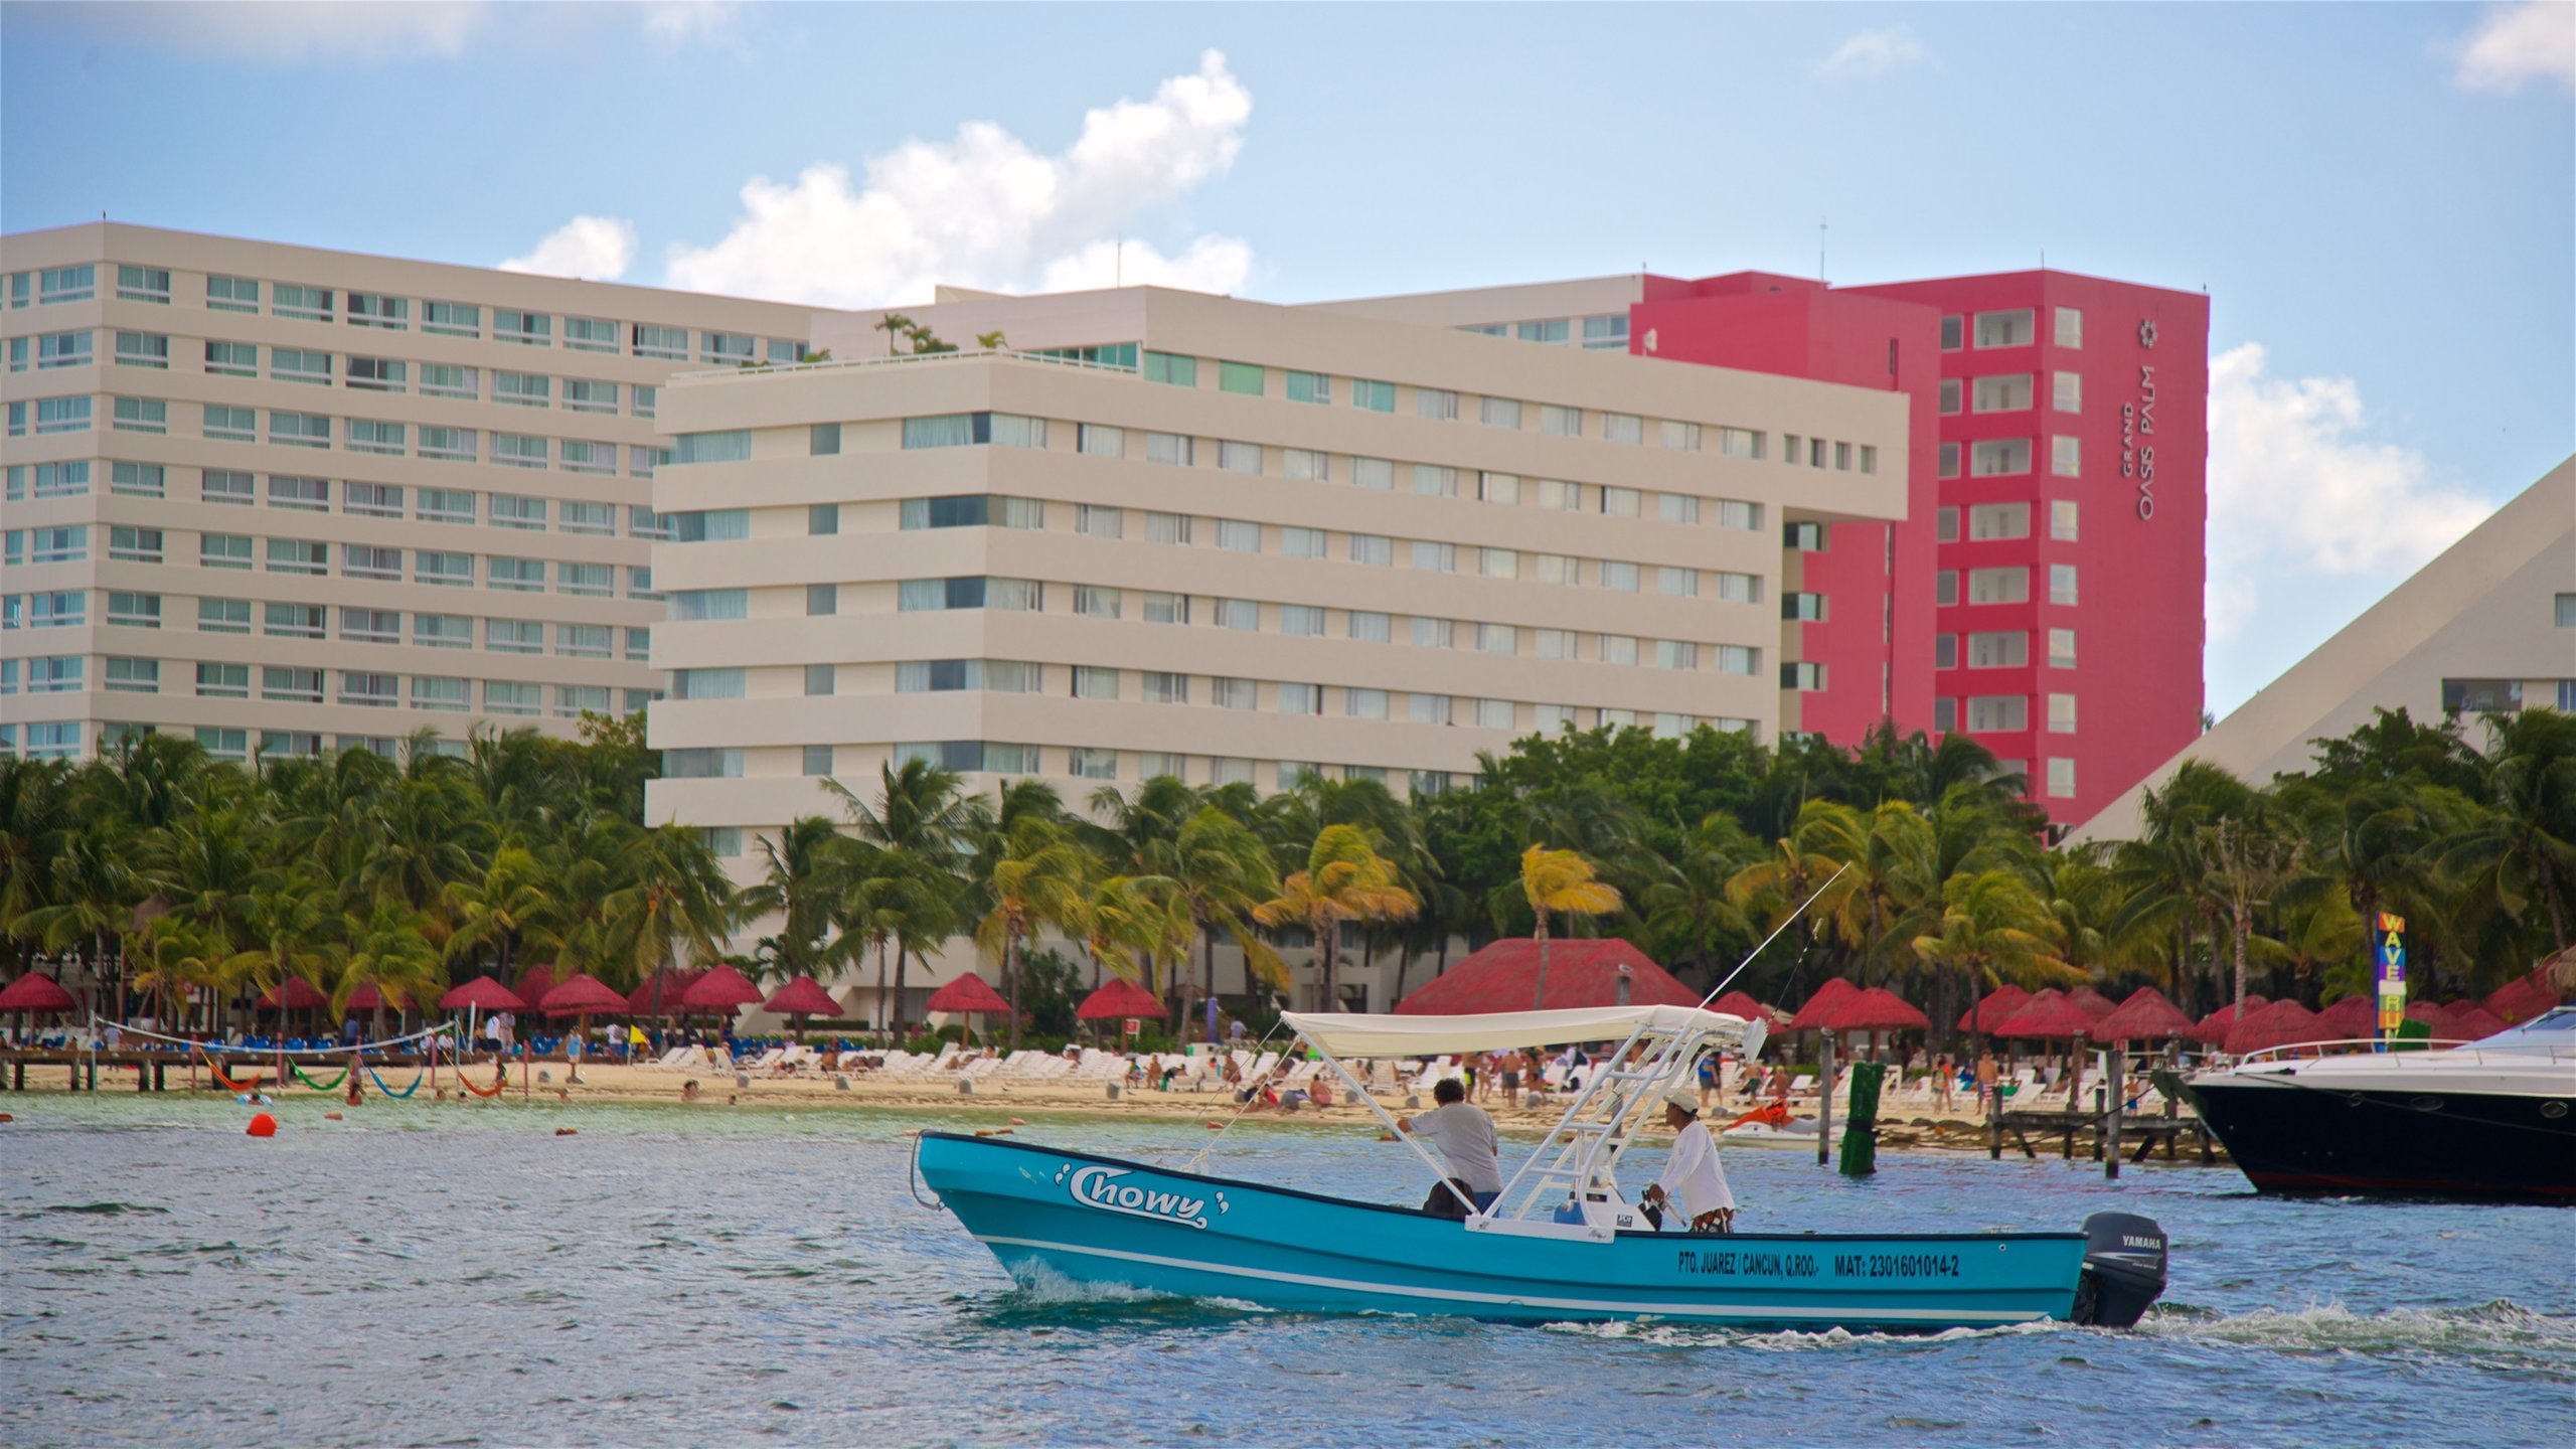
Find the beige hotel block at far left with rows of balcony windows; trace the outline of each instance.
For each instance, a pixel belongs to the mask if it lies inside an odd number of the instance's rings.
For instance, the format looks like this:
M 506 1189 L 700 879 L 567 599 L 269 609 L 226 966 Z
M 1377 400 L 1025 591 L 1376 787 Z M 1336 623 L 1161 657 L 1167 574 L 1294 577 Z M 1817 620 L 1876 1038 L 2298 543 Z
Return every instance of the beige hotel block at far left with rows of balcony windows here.
M 662 688 L 657 397 L 809 309 L 82 224 L 5 240 L 0 753 L 572 732 Z

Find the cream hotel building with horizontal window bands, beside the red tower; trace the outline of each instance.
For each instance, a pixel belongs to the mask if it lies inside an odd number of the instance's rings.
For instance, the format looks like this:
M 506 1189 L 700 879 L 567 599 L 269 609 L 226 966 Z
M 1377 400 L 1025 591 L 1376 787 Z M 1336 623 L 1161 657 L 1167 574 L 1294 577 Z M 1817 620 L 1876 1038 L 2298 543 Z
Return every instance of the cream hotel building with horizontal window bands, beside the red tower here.
M 1906 508 L 1878 389 L 1162 289 L 912 317 L 1010 351 L 819 317 L 829 364 L 662 392 L 652 812 L 719 848 L 907 758 L 1404 794 L 1566 724 L 1775 740 L 1801 552 Z

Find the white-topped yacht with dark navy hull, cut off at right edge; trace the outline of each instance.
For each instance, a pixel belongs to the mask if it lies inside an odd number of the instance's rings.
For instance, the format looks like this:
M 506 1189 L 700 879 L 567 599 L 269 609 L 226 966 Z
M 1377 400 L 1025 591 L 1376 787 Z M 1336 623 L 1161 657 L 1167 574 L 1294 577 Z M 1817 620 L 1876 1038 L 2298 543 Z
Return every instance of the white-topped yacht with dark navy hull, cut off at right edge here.
M 2257 1191 L 2576 1204 L 2576 1006 L 2473 1044 L 2313 1052 L 2187 1083 Z

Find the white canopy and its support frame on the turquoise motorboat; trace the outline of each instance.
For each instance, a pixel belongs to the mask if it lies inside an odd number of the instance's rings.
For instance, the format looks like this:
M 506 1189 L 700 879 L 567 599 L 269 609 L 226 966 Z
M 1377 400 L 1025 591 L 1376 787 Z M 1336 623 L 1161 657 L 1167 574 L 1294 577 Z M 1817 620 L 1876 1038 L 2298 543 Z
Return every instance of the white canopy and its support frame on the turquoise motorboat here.
M 1504 1011 L 1489 1016 L 1365 1016 L 1365 1013 L 1280 1013 L 1280 1021 L 1306 1042 L 1324 1065 L 1350 1088 L 1355 1101 L 1368 1104 L 1386 1132 L 1412 1147 L 1466 1214 L 1471 1232 L 1517 1232 L 1530 1238 L 1574 1238 L 1607 1243 L 1615 1230 L 1592 1222 L 1582 1212 L 1592 1191 L 1618 1194 L 1618 1163 L 1636 1132 L 1662 1116 L 1664 1091 L 1690 1083 L 1700 1057 L 1734 1049 L 1754 1057 L 1767 1036 L 1767 1024 L 1744 1021 L 1716 1011 L 1687 1006 L 1602 1008 L 1602 1011 Z M 1342 1062 L 1340 1049 L 1448 1047 L 1458 1052 L 1492 1052 L 1515 1047 L 1558 1047 L 1579 1042 L 1618 1042 L 1584 1078 L 1582 1091 L 1566 1106 L 1556 1127 L 1502 1183 L 1494 1209 L 1479 1209 L 1458 1191 L 1448 1165 L 1435 1158 L 1404 1124 L 1381 1104 L 1360 1078 Z M 1440 1055 L 1440 1052 L 1425 1052 Z M 1569 1220 L 1558 1209 L 1571 1207 Z

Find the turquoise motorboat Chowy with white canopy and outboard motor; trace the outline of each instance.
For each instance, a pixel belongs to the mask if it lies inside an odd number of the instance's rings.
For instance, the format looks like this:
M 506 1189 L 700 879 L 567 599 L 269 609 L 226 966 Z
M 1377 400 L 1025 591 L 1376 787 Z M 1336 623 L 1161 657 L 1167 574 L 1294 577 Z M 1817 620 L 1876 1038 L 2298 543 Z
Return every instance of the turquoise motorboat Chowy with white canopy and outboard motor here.
M 2038 1320 L 2125 1328 L 2164 1289 L 2164 1232 L 2115 1212 L 2079 1232 L 1651 1227 L 1618 1189 L 1633 1129 L 1662 1088 L 1692 1080 L 1705 1052 L 1759 1049 L 1759 1024 L 1680 1006 L 1285 1021 L 1399 1137 L 1345 1057 L 1618 1047 L 1486 1212 L 1461 1201 L 1461 1214 L 1440 1217 L 953 1132 L 920 1137 L 920 1181 L 1023 1284 L 1280 1310 L 1929 1333 Z M 1450 1181 L 1412 1145 L 1432 1181 Z

